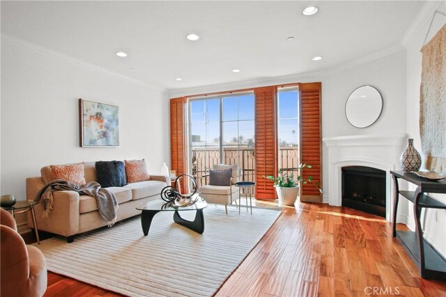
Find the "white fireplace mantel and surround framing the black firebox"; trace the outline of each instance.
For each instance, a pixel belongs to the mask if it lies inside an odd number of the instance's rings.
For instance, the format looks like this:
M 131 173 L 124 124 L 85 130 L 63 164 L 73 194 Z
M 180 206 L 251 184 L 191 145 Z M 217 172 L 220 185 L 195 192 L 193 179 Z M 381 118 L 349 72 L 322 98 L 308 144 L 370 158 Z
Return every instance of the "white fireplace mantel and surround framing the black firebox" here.
M 386 220 L 392 220 L 393 184 L 390 170 L 399 170 L 399 156 L 406 143 L 406 134 L 371 134 L 323 138 L 328 147 L 328 203 L 342 204 L 341 168 L 368 166 L 386 172 Z

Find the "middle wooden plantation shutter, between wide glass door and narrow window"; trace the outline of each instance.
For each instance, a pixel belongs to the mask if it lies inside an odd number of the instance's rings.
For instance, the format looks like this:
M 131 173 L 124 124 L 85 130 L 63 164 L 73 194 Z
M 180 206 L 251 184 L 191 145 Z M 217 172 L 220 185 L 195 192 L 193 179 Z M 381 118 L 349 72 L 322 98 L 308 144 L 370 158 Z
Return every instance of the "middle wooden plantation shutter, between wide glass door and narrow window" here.
M 256 198 L 275 199 L 273 182 L 266 175 L 277 175 L 277 112 L 275 86 L 255 88 L 255 166 Z

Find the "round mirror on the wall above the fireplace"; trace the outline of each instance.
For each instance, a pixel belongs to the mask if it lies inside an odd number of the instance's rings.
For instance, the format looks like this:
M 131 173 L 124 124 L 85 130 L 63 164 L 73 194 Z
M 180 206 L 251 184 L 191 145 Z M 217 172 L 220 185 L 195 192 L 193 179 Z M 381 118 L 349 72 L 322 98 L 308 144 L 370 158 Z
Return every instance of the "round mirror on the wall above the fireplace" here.
M 372 86 L 361 86 L 347 99 L 346 118 L 351 125 L 365 128 L 378 120 L 383 110 L 383 97 Z

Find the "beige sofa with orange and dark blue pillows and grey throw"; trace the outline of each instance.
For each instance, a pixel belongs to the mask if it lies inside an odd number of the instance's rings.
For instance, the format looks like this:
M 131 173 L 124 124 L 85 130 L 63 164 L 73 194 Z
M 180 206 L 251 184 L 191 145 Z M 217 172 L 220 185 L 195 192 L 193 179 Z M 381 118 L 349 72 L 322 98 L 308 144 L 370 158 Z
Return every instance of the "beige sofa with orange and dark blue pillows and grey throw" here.
M 84 163 L 86 182 L 96 181 L 95 162 Z M 40 188 L 50 182 L 51 167 L 40 169 L 41 177 L 26 179 L 26 199 L 34 200 Z M 146 202 L 160 199 L 162 188 L 170 185 L 170 178 L 163 175 L 150 175 L 146 182 L 134 182 L 123 187 L 110 187 L 118 200 L 118 220 L 130 218 L 141 211 L 136 207 Z M 74 240 L 76 234 L 90 231 L 107 225 L 98 212 L 98 205 L 93 197 L 79 195 L 75 191 L 54 191 L 54 208 L 47 217 L 43 216 L 43 204 L 35 207 L 37 227 L 39 231 L 51 232 L 67 237 L 68 242 Z M 28 215 L 28 226 L 33 228 L 31 214 Z

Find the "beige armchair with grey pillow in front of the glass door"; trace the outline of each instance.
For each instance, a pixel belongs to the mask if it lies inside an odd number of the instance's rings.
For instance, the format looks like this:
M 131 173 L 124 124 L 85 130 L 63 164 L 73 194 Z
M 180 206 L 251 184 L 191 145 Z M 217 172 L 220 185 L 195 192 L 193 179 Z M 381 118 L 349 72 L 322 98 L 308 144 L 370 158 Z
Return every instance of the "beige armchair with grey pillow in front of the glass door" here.
M 231 171 L 229 176 L 228 171 Z M 218 164 L 210 170 L 208 175 L 203 177 L 206 178 L 206 185 L 199 188 L 201 198 L 208 203 L 224 204 L 227 215 L 227 205 L 240 198 L 240 189 L 234 184 L 241 181 L 242 168 L 236 164 Z

